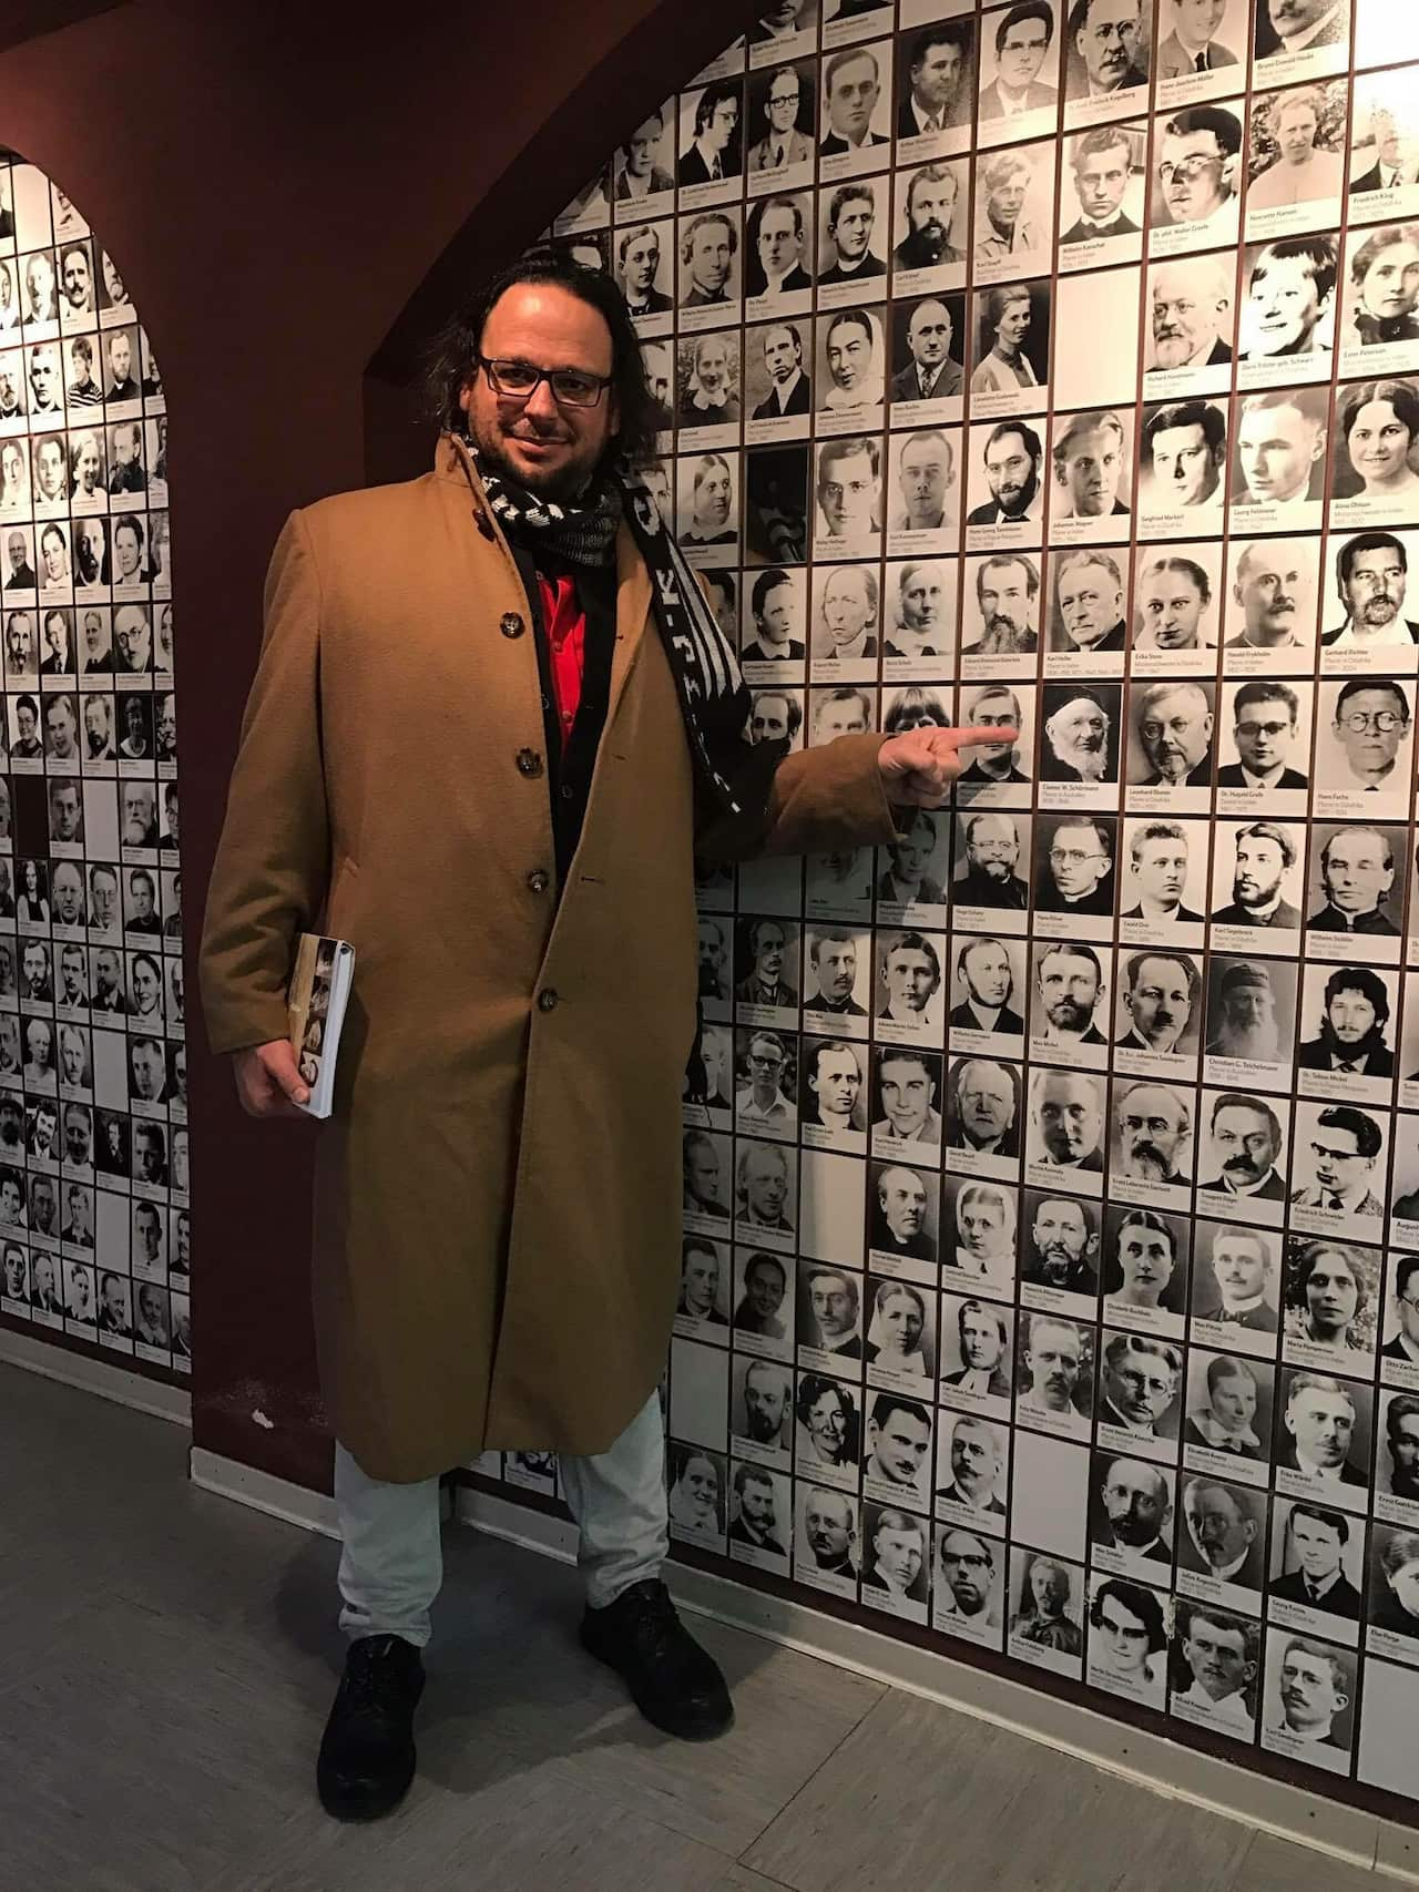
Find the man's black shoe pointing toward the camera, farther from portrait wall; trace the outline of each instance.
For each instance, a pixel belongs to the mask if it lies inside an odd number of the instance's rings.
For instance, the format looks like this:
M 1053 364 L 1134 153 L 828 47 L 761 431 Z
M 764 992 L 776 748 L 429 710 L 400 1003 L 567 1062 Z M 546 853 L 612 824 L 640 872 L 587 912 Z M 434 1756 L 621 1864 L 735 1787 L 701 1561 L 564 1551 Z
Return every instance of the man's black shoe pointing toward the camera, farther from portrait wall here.
M 378 1820 L 414 1778 L 414 1708 L 424 1657 L 403 1637 L 359 1637 L 325 1722 L 316 1790 L 337 1820 Z

